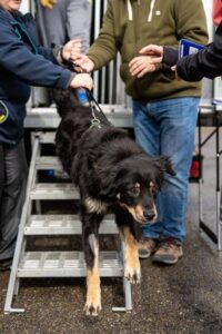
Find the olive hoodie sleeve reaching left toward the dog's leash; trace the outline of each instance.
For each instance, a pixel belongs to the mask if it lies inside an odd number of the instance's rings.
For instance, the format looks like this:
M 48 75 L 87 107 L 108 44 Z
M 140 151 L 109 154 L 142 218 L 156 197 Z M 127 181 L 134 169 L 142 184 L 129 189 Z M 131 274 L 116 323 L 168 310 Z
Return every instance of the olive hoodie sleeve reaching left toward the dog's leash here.
M 87 56 L 94 62 L 94 69 L 100 69 L 117 55 L 114 21 L 112 1 L 108 2 L 108 9 L 103 18 L 102 28 L 97 40 L 90 47 Z

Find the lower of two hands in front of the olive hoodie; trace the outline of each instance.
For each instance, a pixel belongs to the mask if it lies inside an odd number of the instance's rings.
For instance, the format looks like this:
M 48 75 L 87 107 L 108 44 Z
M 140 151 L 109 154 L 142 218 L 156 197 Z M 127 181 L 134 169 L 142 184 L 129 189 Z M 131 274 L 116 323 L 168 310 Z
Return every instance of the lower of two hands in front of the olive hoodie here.
M 129 63 L 130 73 L 133 77 L 142 78 L 144 75 L 153 72 L 155 70 L 155 65 L 152 61 L 153 58 L 150 56 L 139 56 L 133 58 Z

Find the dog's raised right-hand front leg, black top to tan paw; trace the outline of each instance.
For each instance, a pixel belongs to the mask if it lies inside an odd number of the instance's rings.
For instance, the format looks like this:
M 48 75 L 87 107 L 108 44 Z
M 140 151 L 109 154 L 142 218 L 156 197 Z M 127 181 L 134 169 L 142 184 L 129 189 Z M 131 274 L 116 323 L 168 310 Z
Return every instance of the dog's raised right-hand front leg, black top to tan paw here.
M 140 283 L 141 268 L 138 254 L 138 240 L 135 239 L 133 228 L 134 223 L 128 214 L 124 215 L 124 212 L 122 212 L 122 215 L 115 214 L 115 219 L 120 235 L 124 242 L 124 277 L 132 284 Z M 129 224 L 127 225 L 128 222 Z

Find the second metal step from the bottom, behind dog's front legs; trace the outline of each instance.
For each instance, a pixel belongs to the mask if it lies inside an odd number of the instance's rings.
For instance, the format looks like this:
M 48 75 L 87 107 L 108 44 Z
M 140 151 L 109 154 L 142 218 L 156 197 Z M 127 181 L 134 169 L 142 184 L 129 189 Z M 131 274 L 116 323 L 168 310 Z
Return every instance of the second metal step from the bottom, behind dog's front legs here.
M 81 235 L 79 215 L 32 215 L 24 227 L 24 235 Z M 113 215 L 107 215 L 100 225 L 100 234 L 118 234 Z

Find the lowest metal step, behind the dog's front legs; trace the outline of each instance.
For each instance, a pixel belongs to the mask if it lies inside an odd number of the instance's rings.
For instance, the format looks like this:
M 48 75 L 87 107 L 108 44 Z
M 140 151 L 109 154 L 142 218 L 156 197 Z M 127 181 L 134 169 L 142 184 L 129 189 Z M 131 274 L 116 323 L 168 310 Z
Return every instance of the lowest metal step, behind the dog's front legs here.
M 103 277 L 123 275 L 118 252 L 100 252 L 99 271 Z M 18 267 L 18 277 L 83 277 L 85 263 L 82 252 L 27 252 Z

